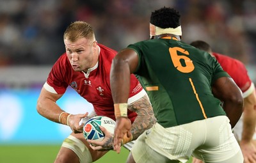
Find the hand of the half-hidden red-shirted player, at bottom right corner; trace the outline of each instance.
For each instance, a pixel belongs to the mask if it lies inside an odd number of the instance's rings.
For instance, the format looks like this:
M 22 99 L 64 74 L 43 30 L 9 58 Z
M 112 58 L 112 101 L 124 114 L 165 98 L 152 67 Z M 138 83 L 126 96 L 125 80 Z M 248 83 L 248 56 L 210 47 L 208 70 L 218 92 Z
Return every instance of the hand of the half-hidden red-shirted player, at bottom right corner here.
M 244 163 L 256 163 L 256 148 L 252 141 L 241 141 L 240 148 L 243 153 Z

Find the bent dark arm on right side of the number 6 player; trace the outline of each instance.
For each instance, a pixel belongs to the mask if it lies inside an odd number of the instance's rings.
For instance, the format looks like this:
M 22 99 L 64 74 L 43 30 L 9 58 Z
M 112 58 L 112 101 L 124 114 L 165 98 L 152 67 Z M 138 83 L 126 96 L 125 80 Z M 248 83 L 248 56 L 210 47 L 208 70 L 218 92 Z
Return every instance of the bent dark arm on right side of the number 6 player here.
M 222 107 L 233 128 L 243 113 L 243 97 L 240 89 L 232 78 L 221 77 L 214 82 L 212 93 L 214 97 L 223 101 Z

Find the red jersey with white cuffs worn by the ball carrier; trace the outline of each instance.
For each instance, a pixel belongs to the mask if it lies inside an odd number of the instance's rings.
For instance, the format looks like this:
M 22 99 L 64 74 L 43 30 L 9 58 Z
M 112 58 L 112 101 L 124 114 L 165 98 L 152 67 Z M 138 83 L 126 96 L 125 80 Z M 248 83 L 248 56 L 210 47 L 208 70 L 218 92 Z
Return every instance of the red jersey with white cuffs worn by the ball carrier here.
M 68 61 L 67 54 L 64 53 L 52 66 L 44 88 L 52 93 L 63 94 L 67 87 L 71 86 L 81 97 L 93 104 L 97 115 L 108 116 L 115 120 L 109 74 L 112 59 L 117 52 L 104 45 L 98 45 L 100 47 L 99 64 L 88 70 L 91 71 L 88 77 L 84 72 L 75 72 Z M 140 82 L 132 74 L 128 104 L 143 97 L 145 93 Z M 136 113 L 128 111 L 128 117 L 132 122 L 136 115 Z

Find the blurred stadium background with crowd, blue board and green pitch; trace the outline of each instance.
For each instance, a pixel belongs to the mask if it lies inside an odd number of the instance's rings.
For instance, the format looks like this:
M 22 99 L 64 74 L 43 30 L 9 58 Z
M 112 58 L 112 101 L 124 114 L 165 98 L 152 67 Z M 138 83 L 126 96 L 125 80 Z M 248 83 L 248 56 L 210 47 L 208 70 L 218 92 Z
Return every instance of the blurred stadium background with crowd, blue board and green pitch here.
M 180 11 L 183 42 L 209 42 L 214 51 L 243 61 L 256 81 L 254 0 L 1 0 L 0 162 L 53 162 L 69 134 L 68 127 L 36 112 L 36 100 L 52 64 L 65 51 L 63 32 L 70 22 L 85 20 L 99 43 L 120 50 L 148 39 L 150 13 L 162 6 Z M 72 89 L 58 104 L 70 113 L 92 109 Z M 124 162 L 124 157 L 126 150 L 98 162 Z

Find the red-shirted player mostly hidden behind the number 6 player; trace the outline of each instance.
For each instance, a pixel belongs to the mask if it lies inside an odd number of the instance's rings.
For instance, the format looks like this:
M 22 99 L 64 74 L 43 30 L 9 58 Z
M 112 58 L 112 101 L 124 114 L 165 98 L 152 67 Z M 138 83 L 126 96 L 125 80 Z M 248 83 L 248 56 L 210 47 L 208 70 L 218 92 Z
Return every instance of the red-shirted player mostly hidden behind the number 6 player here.
M 243 92 L 244 111 L 240 120 L 233 128 L 233 132 L 237 141 L 239 141 L 244 156 L 244 162 L 256 162 L 256 95 L 255 86 L 248 75 L 246 67 L 237 59 L 218 54 L 217 52 L 212 52 L 211 46 L 202 40 L 197 40 L 190 44 L 198 49 L 205 50 L 214 56 L 222 66 L 223 70 L 234 79 L 237 86 Z M 193 162 L 196 163 L 202 161 L 194 159 Z

